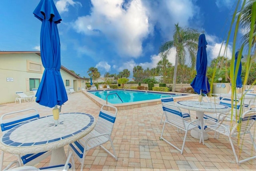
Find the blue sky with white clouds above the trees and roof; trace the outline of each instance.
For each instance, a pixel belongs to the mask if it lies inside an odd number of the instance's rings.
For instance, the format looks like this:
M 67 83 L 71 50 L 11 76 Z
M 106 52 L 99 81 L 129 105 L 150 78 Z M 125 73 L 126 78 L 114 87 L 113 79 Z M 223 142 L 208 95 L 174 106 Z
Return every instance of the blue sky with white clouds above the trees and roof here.
M 0 51 L 40 50 L 41 22 L 32 14 L 40 0 L 0 0 Z M 159 47 L 173 40 L 174 24 L 206 34 L 208 63 L 230 28 L 237 0 L 54 0 L 61 64 L 88 77 L 96 67 L 118 74 L 134 66 L 156 67 Z M 176 50 L 168 56 L 174 64 Z M 223 51 L 221 55 L 223 55 Z M 231 58 L 232 41 L 226 56 Z M 190 64 L 189 59 L 186 61 Z

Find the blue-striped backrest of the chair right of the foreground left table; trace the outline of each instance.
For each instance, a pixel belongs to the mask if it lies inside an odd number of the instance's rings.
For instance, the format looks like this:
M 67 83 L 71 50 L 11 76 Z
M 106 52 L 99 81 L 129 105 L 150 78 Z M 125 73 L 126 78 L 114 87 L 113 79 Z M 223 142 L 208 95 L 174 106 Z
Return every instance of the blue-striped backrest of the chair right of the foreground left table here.
M 116 107 L 111 105 L 102 105 L 94 129 L 99 133 L 108 133 L 111 135 L 114 123 L 116 121 L 116 115 Z

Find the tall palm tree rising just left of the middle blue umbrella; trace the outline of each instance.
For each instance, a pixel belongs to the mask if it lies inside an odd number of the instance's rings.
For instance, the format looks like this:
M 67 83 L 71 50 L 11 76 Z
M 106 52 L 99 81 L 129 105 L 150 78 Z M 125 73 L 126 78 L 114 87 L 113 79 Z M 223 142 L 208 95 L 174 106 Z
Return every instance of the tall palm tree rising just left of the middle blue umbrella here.
M 179 27 L 178 24 L 175 24 L 173 40 L 160 46 L 160 54 L 163 59 L 166 59 L 167 55 L 170 54 L 171 48 L 176 48 L 172 91 L 175 91 L 178 64 L 185 64 L 187 52 L 190 55 L 191 67 L 195 68 L 196 66 L 197 42 L 199 35 L 200 34 L 194 29 L 184 29 Z

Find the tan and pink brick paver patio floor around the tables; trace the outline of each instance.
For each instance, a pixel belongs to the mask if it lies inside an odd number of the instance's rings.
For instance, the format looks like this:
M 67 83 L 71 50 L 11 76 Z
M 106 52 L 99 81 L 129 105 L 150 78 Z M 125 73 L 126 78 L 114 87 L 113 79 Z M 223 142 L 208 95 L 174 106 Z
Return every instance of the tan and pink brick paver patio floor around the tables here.
M 51 108 L 36 102 L 23 102 L 0 105 L 0 116 L 3 113 L 28 108 L 37 109 L 41 116 L 52 113 Z M 68 95 L 68 101 L 62 106 L 62 113 L 84 112 L 96 118 L 99 111 L 100 107 L 81 92 Z M 255 170 L 255 159 L 238 166 L 227 137 L 220 135 L 219 139 L 214 139 L 212 132 L 209 133 L 205 145 L 188 134 L 181 155 L 178 150 L 159 139 L 163 127 L 163 124 L 159 124 L 161 116 L 161 105 L 119 110 L 112 132 L 118 160 L 116 161 L 100 147 L 96 147 L 86 154 L 84 170 Z M 193 112 L 192 118 L 195 118 Z M 174 139 L 176 144 L 181 146 L 184 134 L 177 133 L 176 128 L 168 127 L 170 139 Z M 255 137 L 255 129 L 252 134 Z M 255 155 L 252 144 L 247 140 L 249 137 L 244 141 L 243 149 L 246 150 L 242 152 L 242 156 Z M 110 149 L 110 143 L 105 146 Z M 5 153 L 4 167 L 13 160 L 16 160 L 16 157 Z M 47 158 L 37 166 L 47 166 L 49 161 L 50 158 Z M 76 158 L 75 161 L 76 170 L 80 170 L 80 163 Z

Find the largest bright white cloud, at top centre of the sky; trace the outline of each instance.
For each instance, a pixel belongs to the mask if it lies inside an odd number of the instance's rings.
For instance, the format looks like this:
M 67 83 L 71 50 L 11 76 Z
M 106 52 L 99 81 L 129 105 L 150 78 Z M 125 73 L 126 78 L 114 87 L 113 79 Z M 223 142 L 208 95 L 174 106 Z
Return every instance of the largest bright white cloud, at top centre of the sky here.
M 92 5 L 90 16 L 79 17 L 74 29 L 86 35 L 106 36 L 120 57 L 139 57 L 142 41 L 150 34 L 146 8 L 141 0 L 127 4 L 124 0 L 92 0 Z

